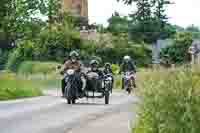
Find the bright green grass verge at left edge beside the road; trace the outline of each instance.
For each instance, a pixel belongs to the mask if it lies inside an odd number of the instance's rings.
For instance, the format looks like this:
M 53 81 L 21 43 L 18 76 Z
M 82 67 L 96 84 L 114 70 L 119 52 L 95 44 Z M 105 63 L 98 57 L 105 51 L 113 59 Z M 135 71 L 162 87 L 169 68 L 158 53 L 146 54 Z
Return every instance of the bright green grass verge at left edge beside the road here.
M 19 79 L 14 74 L 0 73 L 0 100 L 40 95 L 41 90 L 30 80 Z

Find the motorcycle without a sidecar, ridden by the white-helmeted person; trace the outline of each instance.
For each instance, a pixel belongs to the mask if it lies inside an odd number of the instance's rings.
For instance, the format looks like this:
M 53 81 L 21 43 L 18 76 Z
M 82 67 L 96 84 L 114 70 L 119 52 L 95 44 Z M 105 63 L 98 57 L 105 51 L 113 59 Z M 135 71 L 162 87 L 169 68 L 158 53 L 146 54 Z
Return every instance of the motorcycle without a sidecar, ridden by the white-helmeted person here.
M 134 87 L 136 87 L 135 79 L 136 75 L 134 72 L 125 72 L 124 73 L 124 88 L 130 94 Z

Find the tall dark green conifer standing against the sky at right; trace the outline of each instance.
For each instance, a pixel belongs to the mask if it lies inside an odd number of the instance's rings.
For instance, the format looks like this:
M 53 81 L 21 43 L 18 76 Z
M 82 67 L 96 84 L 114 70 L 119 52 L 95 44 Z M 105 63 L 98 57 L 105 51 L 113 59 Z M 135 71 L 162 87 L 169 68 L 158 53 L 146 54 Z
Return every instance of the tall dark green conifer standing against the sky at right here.
M 120 0 L 118 0 L 120 1 Z M 169 29 L 165 7 L 169 0 L 121 0 L 125 4 L 136 3 L 137 11 L 130 15 L 130 35 L 132 39 L 154 43 L 157 39 L 167 38 L 175 30 Z M 155 26 L 156 25 L 156 26 Z

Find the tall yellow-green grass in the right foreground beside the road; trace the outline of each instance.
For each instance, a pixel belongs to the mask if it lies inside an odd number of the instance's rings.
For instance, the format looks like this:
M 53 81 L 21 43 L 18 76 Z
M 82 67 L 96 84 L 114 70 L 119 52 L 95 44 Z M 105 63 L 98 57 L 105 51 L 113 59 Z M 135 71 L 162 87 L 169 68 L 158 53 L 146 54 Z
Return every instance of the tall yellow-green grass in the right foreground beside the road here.
M 199 85 L 197 70 L 146 73 L 139 84 L 141 103 L 133 133 L 198 133 Z

